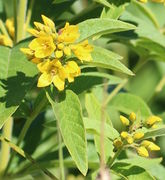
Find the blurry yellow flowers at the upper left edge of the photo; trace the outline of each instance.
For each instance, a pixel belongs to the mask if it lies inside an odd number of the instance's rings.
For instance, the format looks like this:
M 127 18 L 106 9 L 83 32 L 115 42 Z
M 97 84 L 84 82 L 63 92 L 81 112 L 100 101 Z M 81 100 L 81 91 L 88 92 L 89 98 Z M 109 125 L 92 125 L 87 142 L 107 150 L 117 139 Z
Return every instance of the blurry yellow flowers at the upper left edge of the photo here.
M 7 29 L 7 31 L 5 28 Z M 5 34 L 0 33 L 0 45 L 12 47 L 13 46 L 14 34 L 15 34 L 14 19 L 13 18 L 6 20 L 4 29 L 5 29 L 6 33 Z

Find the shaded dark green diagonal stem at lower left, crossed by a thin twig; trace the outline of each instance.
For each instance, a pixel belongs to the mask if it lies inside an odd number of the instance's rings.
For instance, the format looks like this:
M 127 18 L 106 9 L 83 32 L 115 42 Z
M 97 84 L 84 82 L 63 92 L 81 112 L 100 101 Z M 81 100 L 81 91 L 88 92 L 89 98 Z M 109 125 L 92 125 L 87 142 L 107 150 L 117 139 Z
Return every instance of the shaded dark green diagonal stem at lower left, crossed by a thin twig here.
M 46 96 L 43 97 L 43 99 L 41 100 L 40 104 L 32 111 L 31 115 L 27 118 L 25 125 L 18 137 L 18 141 L 17 141 L 17 146 L 20 145 L 20 143 L 22 142 L 22 140 L 24 139 L 30 125 L 32 124 L 33 120 L 37 117 L 37 115 L 40 113 L 40 111 L 42 110 L 42 108 L 45 106 L 45 104 L 47 103 L 47 98 Z M 14 158 L 15 153 L 12 154 L 10 161 L 8 163 L 8 166 L 6 168 L 5 174 L 7 173 L 7 171 L 9 170 L 9 167 L 12 163 L 12 160 Z

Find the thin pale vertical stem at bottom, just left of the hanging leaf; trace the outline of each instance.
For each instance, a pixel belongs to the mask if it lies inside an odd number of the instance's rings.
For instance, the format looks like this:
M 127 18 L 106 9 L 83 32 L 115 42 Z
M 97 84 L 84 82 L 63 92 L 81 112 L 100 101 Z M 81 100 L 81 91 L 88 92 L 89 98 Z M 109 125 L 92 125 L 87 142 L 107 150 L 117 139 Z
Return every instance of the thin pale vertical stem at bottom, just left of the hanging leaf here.
M 63 158 L 63 144 L 60 128 L 57 122 L 57 133 L 58 133 L 58 142 L 59 142 L 59 164 L 60 164 L 60 179 L 65 180 L 65 171 L 64 171 L 64 158 Z

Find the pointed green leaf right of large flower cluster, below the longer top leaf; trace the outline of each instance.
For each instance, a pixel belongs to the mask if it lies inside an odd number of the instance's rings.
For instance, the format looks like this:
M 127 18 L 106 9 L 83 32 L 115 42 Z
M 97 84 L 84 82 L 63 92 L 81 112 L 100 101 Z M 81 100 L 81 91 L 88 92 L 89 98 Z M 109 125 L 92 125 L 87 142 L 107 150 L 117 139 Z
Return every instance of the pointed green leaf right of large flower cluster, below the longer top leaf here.
M 89 65 L 112 69 L 128 75 L 134 75 L 131 70 L 119 61 L 122 57 L 112 51 L 95 46 L 91 54 L 93 60 L 88 63 Z

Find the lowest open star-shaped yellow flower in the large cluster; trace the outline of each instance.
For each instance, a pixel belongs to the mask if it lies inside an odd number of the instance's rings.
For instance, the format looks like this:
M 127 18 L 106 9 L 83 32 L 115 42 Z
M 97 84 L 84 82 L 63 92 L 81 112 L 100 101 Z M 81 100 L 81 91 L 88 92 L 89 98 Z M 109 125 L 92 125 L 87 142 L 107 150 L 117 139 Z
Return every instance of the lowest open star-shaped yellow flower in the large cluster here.
M 53 83 L 59 91 L 64 90 L 66 72 L 58 59 L 48 59 L 39 63 L 37 67 L 42 73 L 38 79 L 38 87 L 46 87 Z

